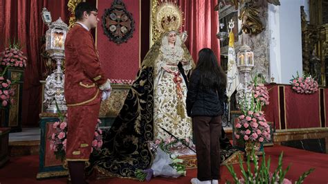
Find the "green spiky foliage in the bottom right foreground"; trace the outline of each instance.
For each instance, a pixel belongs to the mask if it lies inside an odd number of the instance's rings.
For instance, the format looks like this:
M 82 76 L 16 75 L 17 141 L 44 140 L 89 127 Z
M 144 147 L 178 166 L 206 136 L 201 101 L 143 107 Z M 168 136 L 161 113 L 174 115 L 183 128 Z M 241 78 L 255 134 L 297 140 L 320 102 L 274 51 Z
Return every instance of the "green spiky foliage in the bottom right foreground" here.
M 247 162 L 246 166 L 247 168 L 244 169 L 243 166 L 243 160 L 240 156 L 239 157 L 239 166 L 242 172 L 242 178 L 238 178 L 235 170 L 233 169 L 233 165 L 226 165 L 228 168 L 228 171 L 230 174 L 233 176 L 233 183 L 283 183 L 284 178 L 286 176 L 286 173 L 290 169 L 290 165 L 286 169 L 282 169 L 282 156 L 283 152 L 279 156 L 279 161 L 278 161 L 278 166 L 277 169 L 275 169 L 275 172 L 271 174 L 270 172 L 270 164 L 271 164 L 271 158 L 269 156 L 267 162 L 265 159 L 265 153 L 263 152 L 262 156 L 262 163 L 261 166 L 259 167 L 259 163 L 256 160 L 255 157 L 255 151 L 254 149 L 252 150 L 252 156 L 254 160 L 254 171 L 251 170 L 250 167 L 250 156 L 247 156 Z M 296 183 L 302 183 L 304 181 L 304 178 L 306 178 L 311 172 L 314 171 L 314 168 L 309 169 L 309 171 L 304 172 L 302 176 L 298 179 Z M 227 183 L 230 183 L 228 181 Z

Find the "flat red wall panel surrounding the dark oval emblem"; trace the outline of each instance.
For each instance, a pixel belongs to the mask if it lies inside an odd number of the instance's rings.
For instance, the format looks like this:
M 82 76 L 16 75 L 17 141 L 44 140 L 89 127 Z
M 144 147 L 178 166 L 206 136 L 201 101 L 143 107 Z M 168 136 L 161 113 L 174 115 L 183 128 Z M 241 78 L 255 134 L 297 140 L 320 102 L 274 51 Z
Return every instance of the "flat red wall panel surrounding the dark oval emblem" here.
M 140 63 L 140 1 L 125 0 L 125 8 L 131 12 L 135 24 L 133 37 L 127 43 L 116 44 L 104 35 L 102 27 L 102 15 L 104 10 L 111 8 L 113 0 L 98 0 L 98 12 L 100 23 L 97 28 L 97 48 L 100 62 L 104 72 L 110 79 L 134 80 Z M 147 48 L 149 49 L 149 47 Z

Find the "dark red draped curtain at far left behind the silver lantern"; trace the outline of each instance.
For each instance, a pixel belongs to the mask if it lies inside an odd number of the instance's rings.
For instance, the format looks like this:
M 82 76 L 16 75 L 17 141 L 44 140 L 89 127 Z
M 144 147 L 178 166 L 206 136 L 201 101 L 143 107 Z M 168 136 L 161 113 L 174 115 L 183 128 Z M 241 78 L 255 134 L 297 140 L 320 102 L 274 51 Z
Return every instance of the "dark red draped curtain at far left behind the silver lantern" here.
M 40 38 L 46 31 L 41 11 L 51 11 L 53 21 L 62 17 L 68 22 L 68 0 L 1 0 L 0 1 L 0 51 L 8 38 L 19 39 L 28 57 L 24 74 L 22 125 L 37 126 L 41 109 L 41 84 L 44 64 L 39 55 Z

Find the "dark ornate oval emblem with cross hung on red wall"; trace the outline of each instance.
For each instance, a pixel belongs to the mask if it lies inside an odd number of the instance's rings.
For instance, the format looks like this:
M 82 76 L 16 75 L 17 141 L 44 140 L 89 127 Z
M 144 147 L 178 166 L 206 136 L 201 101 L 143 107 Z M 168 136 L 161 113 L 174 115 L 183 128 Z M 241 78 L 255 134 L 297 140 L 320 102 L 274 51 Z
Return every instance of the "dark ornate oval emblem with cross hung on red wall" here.
M 106 9 L 102 15 L 104 34 L 116 44 L 127 42 L 132 37 L 134 24 L 131 13 L 126 10 L 125 4 L 120 0 L 113 1 L 111 8 Z

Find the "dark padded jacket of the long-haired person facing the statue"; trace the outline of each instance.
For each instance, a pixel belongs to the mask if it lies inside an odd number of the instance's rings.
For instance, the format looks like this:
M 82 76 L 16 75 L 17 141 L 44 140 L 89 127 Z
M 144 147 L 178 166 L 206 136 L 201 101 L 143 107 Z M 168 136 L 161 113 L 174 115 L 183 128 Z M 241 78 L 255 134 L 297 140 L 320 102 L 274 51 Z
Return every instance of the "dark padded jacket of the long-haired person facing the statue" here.
M 201 87 L 200 71 L 194 70 L 189 80 L 186 99 L 187 114 L 194 116 L 221 116 L 224 114 L 225 89 L 205 89 Z

